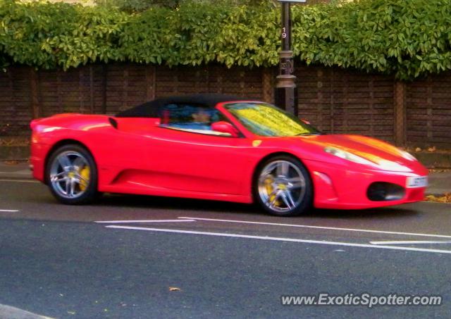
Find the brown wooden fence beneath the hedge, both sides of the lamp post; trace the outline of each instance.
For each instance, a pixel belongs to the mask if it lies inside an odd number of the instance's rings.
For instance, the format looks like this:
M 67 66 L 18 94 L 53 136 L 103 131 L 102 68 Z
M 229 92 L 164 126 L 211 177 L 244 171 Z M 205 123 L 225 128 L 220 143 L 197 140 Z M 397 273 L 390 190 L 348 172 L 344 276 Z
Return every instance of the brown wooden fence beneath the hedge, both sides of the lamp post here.
M 224 93 L 273 102 L 276 69 L 221 65 L 87 65 L 0 73 L 0 138 L 30 134 L 32 118 L 109 113 L 173 94 Z M 397 145 L 451 147 L 451 73 L 412 83 L 338 68 L 297 65 L 299 117 L 320 130 Z

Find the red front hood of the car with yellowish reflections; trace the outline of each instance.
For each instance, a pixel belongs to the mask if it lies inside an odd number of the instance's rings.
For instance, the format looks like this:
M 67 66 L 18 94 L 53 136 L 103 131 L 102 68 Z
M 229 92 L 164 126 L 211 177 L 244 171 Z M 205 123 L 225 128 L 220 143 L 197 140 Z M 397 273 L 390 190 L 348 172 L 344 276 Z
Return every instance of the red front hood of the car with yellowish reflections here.
M 423 165 L 416 161 L 416 159 L 405 151 L 398 149 L 396 146 L 383 142 L 379 139 L 374 139 L 372 137 L 364 137 L 361 135 L 309 135 L 304 137 L 295 137 L 299 142 L 302 141 L 303 144 L 308 144 L 316 149 L 316 154 L 318 154 L 317 147 L 323 150 L 326 147 L 335 147 L 343 151 L 348 151 L 354 155 L 365 158 L 372 163 L 375 163 L 378 168 L 387 170 L 397 170 L 395 169 L 400 164 L 410 170 L 424 170 Z M 307 145 L 305 145 L 307 146 Z M 323 157 L 326 152 L 320 152 L 321 161 L 327 161 L 326 157 Z M 326 154 L 330 158 L 330 154 Z M 336 156 L 333 156 L 334 158 Z

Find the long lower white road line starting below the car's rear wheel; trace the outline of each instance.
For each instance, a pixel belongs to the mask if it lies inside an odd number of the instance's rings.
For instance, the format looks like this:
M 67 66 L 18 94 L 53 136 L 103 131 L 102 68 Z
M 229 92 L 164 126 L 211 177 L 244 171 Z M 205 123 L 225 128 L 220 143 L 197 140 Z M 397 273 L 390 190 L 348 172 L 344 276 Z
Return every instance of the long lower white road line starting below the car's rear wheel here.
M 350 247 L 393 249 L 393 250 L 403 250 L 403 251 L 422 251 L 422 252 L 428 252 L 428 253 L 451 254 L 450 250 L 442 250 L 442 249 L 422 249 L 422 248 L 402 247 L 402 246 L 379 246 L 379 245 L 371 245 L 371 244 L 357 244 L 357 243 L 351 243 L 351 242 L 328 242 L 328 241 L 310 240 L 310 239 L 264 237 L 264 236 L 254 236 L 254 235 L 247 235 L 247 234 L 228 234 L 228 233 L 223 233 L 223 232 L 194 232 L 192 230 L 171 230 L 171 229 L 164 229 L 164 228 L 147 228 L 147 227 L 115 226 L 115 225 L 109 225 L 109 226 L 105 226 L 105 227 L 122 229 L 122 230 L 147 230 L 148 232 L 173 232 L 173 233 L 178 233 L 178 234 L 202 234 L 202 235 L 217 236 L 217 237 L 263 239 L 263 240 L 272 240 L 272 241 L 276 241 L 276 242 L 301 242 L 304 244 L 323 244 L 323 245 L 333 245 L 333 246 L 350 246 Z

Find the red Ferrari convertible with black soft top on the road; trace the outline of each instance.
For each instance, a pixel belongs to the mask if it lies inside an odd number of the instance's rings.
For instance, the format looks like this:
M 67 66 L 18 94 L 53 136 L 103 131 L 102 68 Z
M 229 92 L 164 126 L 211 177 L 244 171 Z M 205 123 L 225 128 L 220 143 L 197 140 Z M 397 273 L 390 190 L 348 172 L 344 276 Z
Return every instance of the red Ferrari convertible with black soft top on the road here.
M 428 171 L 371 137 L 327 135 L 261 101 L 197 95 L 33 120 L 33 175 L 64 204 L 101 192 L 257 202 L 268 213 L 421 201 Z

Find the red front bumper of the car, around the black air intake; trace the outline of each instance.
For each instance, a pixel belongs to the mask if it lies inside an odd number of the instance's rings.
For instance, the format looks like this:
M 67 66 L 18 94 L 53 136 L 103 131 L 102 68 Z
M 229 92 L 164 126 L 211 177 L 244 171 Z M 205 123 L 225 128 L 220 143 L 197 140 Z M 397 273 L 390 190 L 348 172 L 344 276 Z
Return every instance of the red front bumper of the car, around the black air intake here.
M 335 165 L 304 160 L 314 184 L 314 206 L 316 208 L 362 209 L 392 206 L 424 199 L 426 187 L 407 188 L 407 177 L 428 175 L 428 170 L 419 165 L 409 173 L 384 170 L 355 170 L 352 166 Z M 400 199 L 371 201 L 367 191 L 374 182 L 399 185 L 404 189 Z

